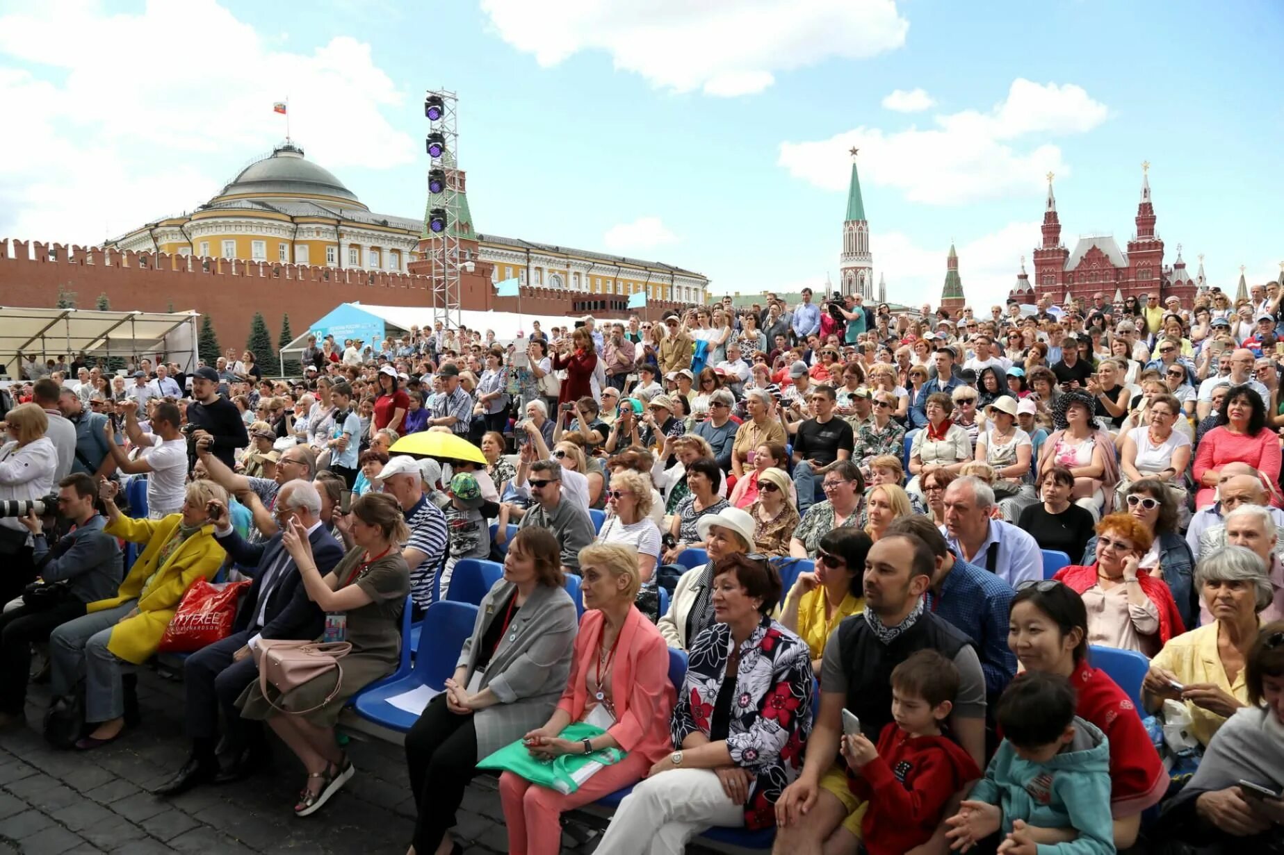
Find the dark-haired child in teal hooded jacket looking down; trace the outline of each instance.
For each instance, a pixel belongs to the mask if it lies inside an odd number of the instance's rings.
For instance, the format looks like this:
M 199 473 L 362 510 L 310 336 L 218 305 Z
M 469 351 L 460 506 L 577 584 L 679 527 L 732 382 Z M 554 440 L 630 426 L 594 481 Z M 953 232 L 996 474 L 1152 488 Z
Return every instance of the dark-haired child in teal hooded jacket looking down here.
M 1004 739 L 985 778 L 946 820 L 946 836 L 963 851 L 1002 832 L 1004 855 L 1113 852 L 1109 746 L 1075 715 L 1070 682 L 1021 674 L 999 697 L 996 718 Z

